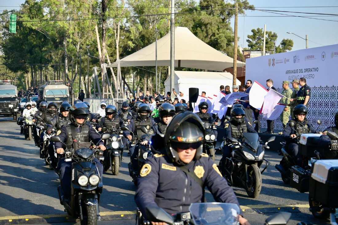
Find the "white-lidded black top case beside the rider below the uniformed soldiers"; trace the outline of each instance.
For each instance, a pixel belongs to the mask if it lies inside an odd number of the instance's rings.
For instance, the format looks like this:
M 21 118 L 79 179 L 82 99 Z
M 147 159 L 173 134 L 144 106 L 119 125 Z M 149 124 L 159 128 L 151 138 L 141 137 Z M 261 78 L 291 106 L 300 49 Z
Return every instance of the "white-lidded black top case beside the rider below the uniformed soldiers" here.
M 318 145 L 320 136 L 321 134 L 316 133 L 301 134 L 298 146 L 300 153 L 307 157 L 317 157 L 314 151 L 322 148 Z

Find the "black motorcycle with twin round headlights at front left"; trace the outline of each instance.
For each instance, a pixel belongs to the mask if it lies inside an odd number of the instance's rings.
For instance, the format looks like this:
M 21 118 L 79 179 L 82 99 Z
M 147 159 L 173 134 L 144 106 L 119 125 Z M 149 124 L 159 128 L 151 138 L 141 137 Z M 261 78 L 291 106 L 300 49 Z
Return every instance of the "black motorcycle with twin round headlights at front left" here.
M 110 134 L 101 135 L 101 140 L 108 140 Z M 52 142 L 61 142 L 58 136 L 52 136 Z M 100 140 L 100 141 L 101 141 Z M 65 145 L 65 143 L 63 143 Z M 60 204 L 65 207 L 65 211 L 72 217 L 79 217 L 81 224 L 96 225 L 101 220 L 99 201 L 103 189 L 102 178 L 98 173 L 95 157 L 102 159 L 103 151 L 96 148 L 66 149 L 65 161 L 72 163 L 72 181 L 70 201 L 64 200 L 61 185 L 57 187 Z

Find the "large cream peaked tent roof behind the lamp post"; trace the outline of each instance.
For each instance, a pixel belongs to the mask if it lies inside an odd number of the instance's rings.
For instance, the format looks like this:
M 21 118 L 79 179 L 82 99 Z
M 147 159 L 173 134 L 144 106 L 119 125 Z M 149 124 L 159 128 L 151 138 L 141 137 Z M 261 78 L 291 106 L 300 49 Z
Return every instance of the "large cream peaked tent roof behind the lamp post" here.
M 187 27 L 175 27 L 175 67 L 223 71 L 233 58 L 199 40 Z M 238 66 L 245 63 L 237 60 Z M 170 32 L 157 41 L 157 65 L 170 66 Z M 121 67 L 155 66 L 155 42 L 120 59 Z M 117 67 L 117 62 L 108 67 Z

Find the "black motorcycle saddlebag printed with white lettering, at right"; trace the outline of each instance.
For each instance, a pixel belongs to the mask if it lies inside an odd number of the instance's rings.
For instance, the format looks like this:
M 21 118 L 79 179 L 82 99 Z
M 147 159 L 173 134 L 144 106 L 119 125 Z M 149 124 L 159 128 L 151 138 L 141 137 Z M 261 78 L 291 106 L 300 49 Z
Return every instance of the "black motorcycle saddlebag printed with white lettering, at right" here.
M 299 192 L 304 193 L 309 191 L 309 175 L 306 170 L 299 166 L 291 167 L 290 185 Z

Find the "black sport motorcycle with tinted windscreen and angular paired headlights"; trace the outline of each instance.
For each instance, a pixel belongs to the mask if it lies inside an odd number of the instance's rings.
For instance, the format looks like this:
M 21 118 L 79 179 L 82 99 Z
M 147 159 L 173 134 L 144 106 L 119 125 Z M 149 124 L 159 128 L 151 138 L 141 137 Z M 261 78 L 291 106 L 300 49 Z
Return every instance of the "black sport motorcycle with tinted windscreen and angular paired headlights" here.
M 265 148 L 268 149 L 267 144 L 274 140 L 275 136 L 271 136 L 262 145 L 257 133 L 243 133 L 240 140 L 231 138 L 231 143 L 228 144 L 232 149 L 231 157 L 225 159 L 221 168 L 228 184 L 242 187 L 249 197 L 257 198 L 262 188 L 261 174 L 269 165 L 268 160 L 264 158 Z M 266 166 L 260 171 L 263 161 L 266 162 Z

